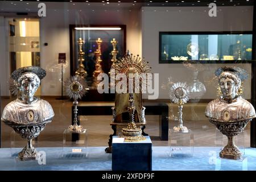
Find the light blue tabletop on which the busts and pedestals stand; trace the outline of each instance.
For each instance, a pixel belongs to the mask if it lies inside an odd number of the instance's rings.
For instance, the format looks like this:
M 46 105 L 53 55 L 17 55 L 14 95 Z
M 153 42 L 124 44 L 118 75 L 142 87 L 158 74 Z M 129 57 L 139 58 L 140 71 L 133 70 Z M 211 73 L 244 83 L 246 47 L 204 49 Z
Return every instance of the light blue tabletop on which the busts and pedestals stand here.
M 65 148 L 66 150 L 68 148 Z M 112 154 L 105 147 L 87 147 L 86 153 L 68 153 L 63 148 L 36 148 L 38 160 L 19 161 L 21 148 L 0 148 L 1 170 L 112 170 Z M 152 170 L 256 170 L 256 148 L 245 148 L 243 159 L 230 160 L 218 157 L 220 147 L 153 147 Z M 77 152 L 77 150 L 75 151 Z M 78 150 L 79 152 L 79 150 Z M 83 152 L 83 151 L 82 151 Z M 63 156 L 64 155 L 64 156 Z

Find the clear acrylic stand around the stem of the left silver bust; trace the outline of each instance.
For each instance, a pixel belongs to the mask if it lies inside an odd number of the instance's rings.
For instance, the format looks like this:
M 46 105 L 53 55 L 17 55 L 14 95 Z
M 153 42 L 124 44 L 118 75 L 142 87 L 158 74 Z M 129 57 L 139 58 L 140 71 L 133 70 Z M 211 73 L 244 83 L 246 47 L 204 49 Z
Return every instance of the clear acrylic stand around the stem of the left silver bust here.
M 27 139 L 20 137 L 15 131 L 11 131 L 11 144 L 10 144 L 10 155 L 18 157 L 18 153 L 22 151 L 22 148 L 27 146 Z M 38 147 L 38 137 L 32 139 L 32 146 L 35 149 Z

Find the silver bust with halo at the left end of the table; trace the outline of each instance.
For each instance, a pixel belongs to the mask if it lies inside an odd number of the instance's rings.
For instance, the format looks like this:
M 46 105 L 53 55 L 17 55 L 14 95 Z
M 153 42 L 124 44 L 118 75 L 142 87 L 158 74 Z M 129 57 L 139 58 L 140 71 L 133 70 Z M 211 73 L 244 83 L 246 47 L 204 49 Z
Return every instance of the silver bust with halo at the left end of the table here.
M 36 159 L 36 150 L 32 139 L 38 137 L 46 124 L 51 122 L 54 113 L 51 105 L 40 98 L 34 97 L 40 86 L 40 80 L 46 71 L 40 67 L 23 67 L 11 75 L 11 90 L 16 90 L 17 99 L 3 109 L 1 121 L 13 127 L 16 133 L 27 139 L 27 146 L 19 152 L 20 160 Z

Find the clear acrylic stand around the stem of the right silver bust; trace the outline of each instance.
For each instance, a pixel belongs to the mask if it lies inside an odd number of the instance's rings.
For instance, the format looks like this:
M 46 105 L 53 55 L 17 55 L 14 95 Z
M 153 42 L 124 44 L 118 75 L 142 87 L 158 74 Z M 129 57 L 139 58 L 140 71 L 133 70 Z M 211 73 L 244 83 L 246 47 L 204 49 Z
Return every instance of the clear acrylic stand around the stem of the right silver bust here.
M 222 150 L 228 144 L 228 137 L 216 129 L 216 139 L 214 143 L 216 147 L 220 147 L 220 150 Z M 236 144 L 240 152 L 242 152 L 242 155 L 245 155 L 245 134 L 243 131 L 239 135 L 234 136 L 234 144 Z

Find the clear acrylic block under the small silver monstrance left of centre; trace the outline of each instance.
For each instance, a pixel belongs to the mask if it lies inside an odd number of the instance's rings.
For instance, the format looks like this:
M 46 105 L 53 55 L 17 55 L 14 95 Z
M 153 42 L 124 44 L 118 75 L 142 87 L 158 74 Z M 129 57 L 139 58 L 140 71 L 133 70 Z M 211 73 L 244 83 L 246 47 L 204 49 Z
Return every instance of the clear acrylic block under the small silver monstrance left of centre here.
M 66 129 L 63 133 L 63 158 L 86 158 L 87 130 L 74 132 Z

